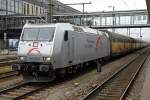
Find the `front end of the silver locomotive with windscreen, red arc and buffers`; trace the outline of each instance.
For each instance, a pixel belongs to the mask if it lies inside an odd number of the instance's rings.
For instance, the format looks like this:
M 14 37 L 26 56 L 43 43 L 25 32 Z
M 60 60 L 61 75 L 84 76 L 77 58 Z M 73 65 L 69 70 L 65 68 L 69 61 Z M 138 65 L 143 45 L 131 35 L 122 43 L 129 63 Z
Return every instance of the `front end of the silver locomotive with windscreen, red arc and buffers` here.
M 19 47 L 18 62 L 12 66 L 26 81 L 47 82 L 54 78 L 52 66 L 55 27 L 24 27 Z

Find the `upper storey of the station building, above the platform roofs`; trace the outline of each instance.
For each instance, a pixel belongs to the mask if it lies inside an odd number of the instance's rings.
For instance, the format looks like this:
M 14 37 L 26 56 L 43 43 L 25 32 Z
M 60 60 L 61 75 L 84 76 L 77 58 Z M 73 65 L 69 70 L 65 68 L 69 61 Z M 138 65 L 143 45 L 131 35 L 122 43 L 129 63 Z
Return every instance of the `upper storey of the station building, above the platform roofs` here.
M 22 14 L 43 15 L 48 9 L 49 0 L 0 0 L 0 15 Z M 80 13 L 59 1 L 52 1 L 55 13 Z

